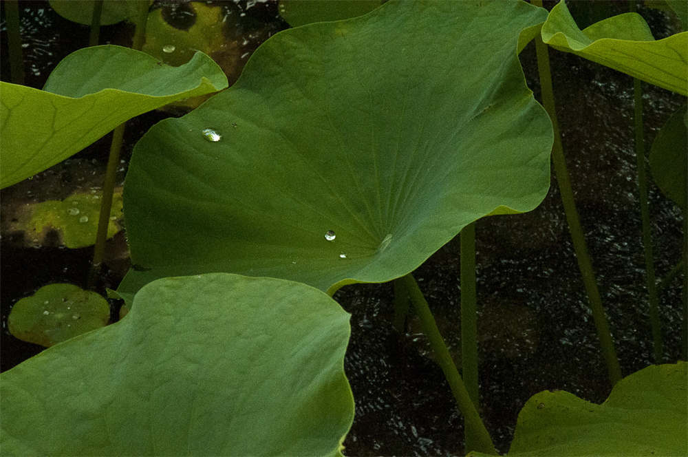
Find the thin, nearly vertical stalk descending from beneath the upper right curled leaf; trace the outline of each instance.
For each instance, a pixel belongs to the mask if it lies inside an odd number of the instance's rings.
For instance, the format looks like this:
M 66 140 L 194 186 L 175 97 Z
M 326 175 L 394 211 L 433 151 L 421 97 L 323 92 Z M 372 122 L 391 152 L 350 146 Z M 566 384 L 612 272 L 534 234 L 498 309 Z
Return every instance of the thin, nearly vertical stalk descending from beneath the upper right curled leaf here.
M 634 1 L 631 1 L 634 4 Z M 649 205 L 647 204 L 647 174 L 645 173 L 645 135 L 643 134 L 643 89 L 641 81 L 633 78 L 634 94 L 634 129 L 636 168 L 638 169 L 638 199 L 641 202 L 641 220 L 643 222 L 643 248 L 645 251 L 645 283 L 649 301 L 649 325 L 652 328 L 654 346 L 654 363 L 662 363 L 664 348 L 662 327 L 659 320 L 659 299 L 657 282 L 654 274 L 654 255 L 652 254 L 652 233 L 649 224 Z

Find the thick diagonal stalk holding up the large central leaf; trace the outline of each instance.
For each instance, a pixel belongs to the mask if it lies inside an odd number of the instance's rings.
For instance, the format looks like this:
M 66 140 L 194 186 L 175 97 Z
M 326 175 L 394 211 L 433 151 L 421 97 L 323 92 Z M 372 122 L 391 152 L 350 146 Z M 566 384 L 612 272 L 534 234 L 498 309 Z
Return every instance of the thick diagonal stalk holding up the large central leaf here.
M 454 395 L 459 410 L 464 415 L 466 436 L 469 436 L 469 434 L 473 435 L 470 441 L 466 440 L 466 449 L 464 449 L 464 451 L 468 453 L 473 450 L 484 452 L 485 454 L 497 455 L 492 438 L 490 438 L 490 434 L 487 432 L 485 424 L 480 418 L 480 414 L 478 414 L 473 401 L 471 401 L 471 396 L 466 390 L 464 381 L 461 379 L 461 375 L 456 369 L 454 361 L 451 359 L 451 354 L 449 354 L 447 345 L 444 343 L 440 330 L 437 328 L 435 318 L 430 312 L 430 307 L 425 297 L 423 297 L 423 294 L 420 292 L 416 280 L 413 279 L 413 276 L 410 274 L 401 279 L 409 293 L 409 297 L 411 297 L 413 307 L 416 308 L 416 315 L 420 318 L 423 332 L 430 340 L 430 345 L 432 346 L 433 352 L 435 352 L 435 357 L 442 368 L 442 372 L 444 372 L 444 377 L 447 379 L 447 383 L 449 383 L 449 387 L 451 388 L 451 392 Z M 469 449 L 469 442 L 473 444 L 472 449 Z

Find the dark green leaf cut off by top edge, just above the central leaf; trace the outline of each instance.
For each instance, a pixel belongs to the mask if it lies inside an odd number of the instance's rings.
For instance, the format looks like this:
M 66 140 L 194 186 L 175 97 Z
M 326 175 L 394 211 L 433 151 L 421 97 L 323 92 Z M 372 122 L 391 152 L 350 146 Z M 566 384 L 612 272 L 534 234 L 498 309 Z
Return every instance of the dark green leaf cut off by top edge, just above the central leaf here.
M 299 27 L 363 16 L 381 4 L 382 0 L 280 0 L 279 14 L 292 27 Z

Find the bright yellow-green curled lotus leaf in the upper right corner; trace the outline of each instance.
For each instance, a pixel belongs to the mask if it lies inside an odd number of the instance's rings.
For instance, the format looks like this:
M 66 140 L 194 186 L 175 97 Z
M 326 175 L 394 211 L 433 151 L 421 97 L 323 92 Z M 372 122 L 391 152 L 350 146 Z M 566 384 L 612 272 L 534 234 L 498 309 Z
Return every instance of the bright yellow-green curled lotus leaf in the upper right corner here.
M 580 30 L 566 3 L 560 1 L 550 11 L 541 34 L 545 43 L 558 50 L 688 94 L 688 32 L 655 41 L 636 13 L 619 14 Z

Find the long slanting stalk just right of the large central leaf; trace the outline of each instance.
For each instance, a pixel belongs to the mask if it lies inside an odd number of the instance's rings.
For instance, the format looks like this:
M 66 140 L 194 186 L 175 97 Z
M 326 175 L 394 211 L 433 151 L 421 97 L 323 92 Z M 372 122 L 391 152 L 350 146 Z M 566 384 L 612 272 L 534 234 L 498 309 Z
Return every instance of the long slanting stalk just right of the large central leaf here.
M 542 0 L 533 0 L 533 4 L 541 7 Z M 592 310 L 592 317 L 597 330 L 597 337 L 600 340 L 602 354 L 607 364 L 609 379 L 612 385 L 615 385 L 621 379 L 621 366 L 619 365 L 619 359 L 616 357 L 614 341 L 612 340 L 607 317 L 602 307 L 602 299 L 594 277 L 592 261 L 590 260 L 590 255 L 588 255 L 588 246 L 585 244 L 583 229 L 581 229 L 581 222 L 573 198 L 571 178 L 566 169 L 566 159 L 563 156 L 561 135 L 559 134 L 559 125 L 557 123 L 555 96 L 554 89 L 552 88 L 552 74 L 550 72 L 550 57 L 548 54 L 548 47 L 542 41 L 541 36 L 537 36 L 535 39 L 535 49 L 537 52 L 537 67 L 540 75 L 542 104 L 550 115 L 555 133 L 555 141 L 552 146 L 552 163 L 554 164 L 557 183 L 559 184 L 559 193 L 561 193 L 568 229 L 571 233 L 574 251 L 576 252 L 578 268 L 581 271 L 583 284 L 585 285 L 585 290 L 590 300 L 590 309 Z

